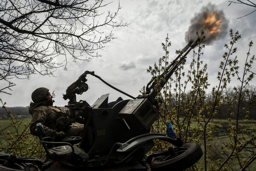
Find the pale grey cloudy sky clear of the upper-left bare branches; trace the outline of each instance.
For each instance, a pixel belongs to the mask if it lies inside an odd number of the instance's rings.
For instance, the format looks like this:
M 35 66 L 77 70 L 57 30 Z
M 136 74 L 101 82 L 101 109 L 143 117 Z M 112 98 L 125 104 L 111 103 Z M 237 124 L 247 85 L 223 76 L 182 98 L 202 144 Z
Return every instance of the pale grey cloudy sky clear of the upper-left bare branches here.
M 238 47 L 238 59 L 244 61 L 250 41 L 256 42 L 256 12 L 242 17 L 255 8 L 240 4 L 230 4 L 228 0 L 120 0 L 122 9 L 117 20 L 130 23 L 128 27 L 113 29 L 116 39 L 106 44 L 99 53 L 100 58 L 91 61 L 71 62 L 67 65 L 67 71 L 59 69 L 55 77 L 32 75 L 26 80 L 12 80 L 17 84 L 12 90 L 12 95 L 0 94 L 0 98 L 6 101 L 6 106 L 28 106 L 31 101 L 31 93 L 38 87 L 47 87 L 50 92 L 55 91 L 55 105 L 67 104 L 62 98 L 67 87 L 76 81 L 86 70 L 94 71 L 108 83 L 125 91 L 131 96 L 138 96 L 141 88 L 148 83 L 151 76 L 146 72 L 148 66 L 153 66 L 158 58 L 164 55 L 161 43 L 169 35 L 172 46 L 169 49 L 170 58 L 175 58 L 175 50 L 182 49 L 186 45 L 185 33 L 188 31 L 192 18 L 198 14 L 203 6 L 209 3 L 222 10 L 229 29 L 239 31 L 242 38 L 236 44 Z M 116 2 L 111 8 L 115 9 Z M 228 6 L 230 4 L 230 6 Z M 242 17 L 240 19 L 237 19 Z M 108 28 L 106 28 L 108 29 Z M 109 31 L 109 30 L 107 30 Z M 229 35 L 221 35 L 221 38 L 207 45 L 204 49 L 204 62 L 208 64 L 209 83 L 214 86 L 216 75 L 222 55 L 226 50 L 224 44 L 230 41 Z M 255 45 L 256 46 L 256 45 Z M 256 54 L 255 46 L 251 54 Z M 191 62 L 192 53 L 188 55 L 187 63 Z M 255 72 L 255 66 L 253 69 Z M 86 100 L 93 104 L 101 95 L 110 93 L 109 101 L 116 100 L 119 96 L 129 99 L 127 96 L 111 89 L 99 79 L 88 75 L 87 84 L 90 89 L 77 96 L 77 101 Z M 256 81 L 252 84 L 255 85 Z M 235 86 L 233 81 L 230 86 Z M 0 87 L 1 83 L 0 83 Z

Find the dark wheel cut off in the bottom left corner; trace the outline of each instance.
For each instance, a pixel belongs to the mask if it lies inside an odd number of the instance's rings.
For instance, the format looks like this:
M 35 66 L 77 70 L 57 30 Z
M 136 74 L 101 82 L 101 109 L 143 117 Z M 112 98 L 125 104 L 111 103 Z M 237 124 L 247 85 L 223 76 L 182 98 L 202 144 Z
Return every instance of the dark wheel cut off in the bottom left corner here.
M 0 154 L 0 171 L 38 171 L 31 163 L 13 162 L 6 165 L 5 162 L 10 154 Z

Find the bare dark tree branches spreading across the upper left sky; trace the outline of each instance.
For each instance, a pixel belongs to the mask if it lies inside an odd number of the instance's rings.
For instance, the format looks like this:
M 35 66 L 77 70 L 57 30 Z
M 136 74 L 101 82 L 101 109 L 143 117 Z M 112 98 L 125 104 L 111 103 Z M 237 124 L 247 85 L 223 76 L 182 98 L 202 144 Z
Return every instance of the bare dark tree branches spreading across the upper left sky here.
M 0 80 L 11 83 L 12 78 L 29 78 L 31 74 L 52 75 L 59 67 L 66 68 L 68 57 L 73 61 L 100 57 L 97 51 L 114 39 L 111 29 L 128 26 L 116 21 L 121 7 L 118 3 L 116 11 L 111 12 L 108 10 L 111 3 L 3 0 L 0 4 Z M 62 62 L 56 62 L 57 57 L 62 57 Z M 11 87 L 0 88 L 0 92 Z

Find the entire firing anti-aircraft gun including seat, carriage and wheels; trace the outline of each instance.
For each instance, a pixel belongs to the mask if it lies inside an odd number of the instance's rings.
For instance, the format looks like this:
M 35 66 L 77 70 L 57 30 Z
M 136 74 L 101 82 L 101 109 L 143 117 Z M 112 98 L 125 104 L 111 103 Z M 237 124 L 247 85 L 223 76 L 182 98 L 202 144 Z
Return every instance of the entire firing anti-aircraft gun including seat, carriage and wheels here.
M 159 116 L 153 107 L 157 93 L 166 84 L 186 55 L 198 43 L 188 43 L 184 52 L 175 58 L 159 78 L 152 78 L 146 86 L 145 95 L 134 98 L 105 82 L 94 72 L 85 71 L 66 94 L 69 99 L 68 115 L 72 122 L 84 124 L 82 137 L 65 137 L 54 142 L 53 137 L 44 137 L 44 127 L 37 124 L 39 141 L 46 153 L 46 161 L 39 158 L 17 157 L 15 154 L 0 153 L 0 170 L 5 171 L 183 171 L 194 165 L 203 155 L 201 147 L 195 143 L 185 143 L 168 134 L 149 133 L 151 125 Z M 108 86 L 123 93 L 131 100 L 121 98 L 108 103 L 108 94 L 101 96 L 94 104 L 76 101 L 76 95 L 88 90 L 87 75 L 99 78 Z M 157 87 L 156 87 L 157 85 Z M 158 90 L 156 90 L 158 88 Z M 153 140 L 169 142 L 165 151 L 154 151 Z M 79 143 L 79 147 L 74 144 Z M 48 146 L 49 145 L 49 146 Z M 56 147 L 57 146 L 57 147 Z M 85 153 L 84 153 L 85 152 Z

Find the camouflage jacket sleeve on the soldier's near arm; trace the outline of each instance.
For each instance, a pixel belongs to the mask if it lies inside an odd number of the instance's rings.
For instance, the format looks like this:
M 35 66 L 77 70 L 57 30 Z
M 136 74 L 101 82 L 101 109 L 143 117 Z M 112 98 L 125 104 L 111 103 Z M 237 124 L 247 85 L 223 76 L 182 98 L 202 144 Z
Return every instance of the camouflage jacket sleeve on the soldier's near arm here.
M 36 124 L 41 122 L 44 126 L 45 135 L 44 136 L 57 136 L 57 131 L 55 127 L 55 120 L 58 118 L 54 113 L 52 113 L 47 107 L 37 107 L 33 111 L 32 120 L 30 122 L 30 132 L 32 135 L 36 135 L 35 131 Z

